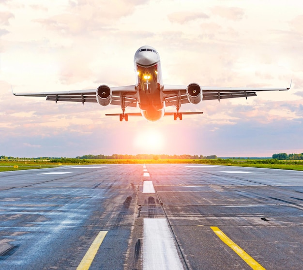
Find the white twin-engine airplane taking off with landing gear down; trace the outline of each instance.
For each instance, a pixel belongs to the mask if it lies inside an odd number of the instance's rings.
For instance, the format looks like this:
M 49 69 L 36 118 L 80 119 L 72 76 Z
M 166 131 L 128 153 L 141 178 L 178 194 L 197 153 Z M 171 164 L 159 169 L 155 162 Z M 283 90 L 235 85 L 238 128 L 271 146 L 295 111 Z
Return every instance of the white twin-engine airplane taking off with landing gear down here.
M 174 120 L 182 120 L 183 115 L 201 114 L 203 112 L 181 112 L 182 104 L 198 104 L 201 100 L 256 96 L 258 91 L 285 91 L 288 88 L 233 88 L 201 87 L 198 83 L 186 85 L 163 84 L 159 53 L 151 46 L 136 50 L 134 57 L 136 84 L 109 87 L 105 84 L 97 89 L 72 90 L 43 93 L 13 93 L 15 96 L 46 96 L 46 100 L 98 102 L 102 106 L 109 104 L 121 106 L 122 113 L 111 113 L 106 116 L 119 116 L 120 121 L 128 121 L 129 116 L 143 116 L 149 121 L 157 121 L 163 116 L 173 115 Z M 141 112 L 126 113 L 127 107 L 139 106 Z M 176 112 L 166 112 L 165 108 L 175 106 Z

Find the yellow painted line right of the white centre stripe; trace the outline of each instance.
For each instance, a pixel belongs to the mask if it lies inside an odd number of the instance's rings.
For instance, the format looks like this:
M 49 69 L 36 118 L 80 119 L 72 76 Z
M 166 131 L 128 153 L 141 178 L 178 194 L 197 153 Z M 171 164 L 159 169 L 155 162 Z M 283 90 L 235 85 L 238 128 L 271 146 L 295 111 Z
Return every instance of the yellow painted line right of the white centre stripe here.
M 238 254 L 243 261 L 245 261 L 254 270 L 265 270 L 254 258 L 247 254 L 241 247 L 229 239 L 224 232 L 222 232 L 218 227 L 211 227 L 213 232 L 230 247 L 236 254 Z

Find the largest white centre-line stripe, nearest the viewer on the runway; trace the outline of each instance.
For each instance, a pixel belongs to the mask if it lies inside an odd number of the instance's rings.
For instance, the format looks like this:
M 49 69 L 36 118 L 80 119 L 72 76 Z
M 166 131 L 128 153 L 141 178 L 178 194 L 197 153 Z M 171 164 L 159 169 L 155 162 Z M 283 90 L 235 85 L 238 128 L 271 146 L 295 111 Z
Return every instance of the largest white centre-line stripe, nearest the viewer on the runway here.
M 182 270 L 166 219 L 144 219 L 143 270 Z

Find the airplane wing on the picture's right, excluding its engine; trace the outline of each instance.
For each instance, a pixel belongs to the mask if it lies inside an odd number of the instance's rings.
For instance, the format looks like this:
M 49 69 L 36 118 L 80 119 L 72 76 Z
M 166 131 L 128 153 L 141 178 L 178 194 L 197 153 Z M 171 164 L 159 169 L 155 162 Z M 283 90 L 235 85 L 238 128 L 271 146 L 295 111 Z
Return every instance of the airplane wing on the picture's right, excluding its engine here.
M 291 83 L 290 83 L 291 85 Z M 189 103 L 186 94 L 187 86 L 184 85 L 164 85 L 163 94 L 165 97 L 166 106 L 176 106 L 179 98 L 179 103 Z M 245 97 L 256 96 L 256 92 L 262 91 L 287 91 L 287 88 L 254 88 L 254 87 L 208 87 L 201 86 L 202 90 L 202 100 L 212 100 L 225 98 L 235 98 L 235 97 Z

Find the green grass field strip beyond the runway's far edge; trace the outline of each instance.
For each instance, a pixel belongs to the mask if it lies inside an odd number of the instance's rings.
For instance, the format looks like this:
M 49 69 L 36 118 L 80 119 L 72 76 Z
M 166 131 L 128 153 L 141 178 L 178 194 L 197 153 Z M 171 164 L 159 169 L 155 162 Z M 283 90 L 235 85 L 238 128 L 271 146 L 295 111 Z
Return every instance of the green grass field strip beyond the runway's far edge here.
M 58 167 L 64 165 L 90 164 L 165 164 L 165 163 L 192 163 L 227 165 L 242 167 L 257 167 L 283 170 L 303 171 L 302 160 L 277 159 L 52 159 L 52 160 L 0 160 L 0 172 Z M 14 168 L 18 166 L 18 168 Z

